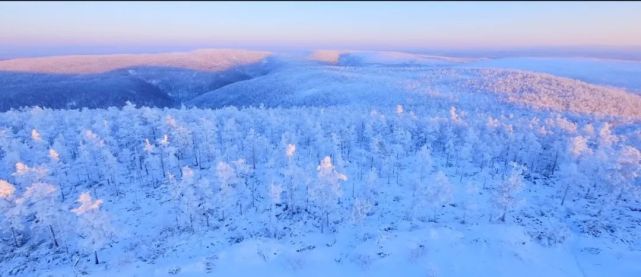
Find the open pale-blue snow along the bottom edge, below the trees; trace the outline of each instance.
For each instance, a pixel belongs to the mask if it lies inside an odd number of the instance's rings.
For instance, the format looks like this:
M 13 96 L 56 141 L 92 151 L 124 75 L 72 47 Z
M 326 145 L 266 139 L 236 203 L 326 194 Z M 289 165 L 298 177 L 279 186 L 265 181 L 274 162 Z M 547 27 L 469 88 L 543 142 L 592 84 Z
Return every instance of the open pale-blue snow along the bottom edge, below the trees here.
M 353 234 L 350 234 L 353 235 Z M 114 268 L 88 271 L 91 276 L 222 275 L 247 276 L 635 276 L 641 255 L 604 247 L 594 240 L 570 240 L 546 248 L 514 226 L 465 229 L 426 228 L 353 242 L 354 238 L 308 236 L 291 244 L 251 239 L 229 247 L 211 245 L 213 238 L 181 237 L 168 242 L 171 253 L 156 264 L 134 263 L 115 255 Z M 334 244 L 332 244 L 336 240 Z M 317 245 L 311 250 L 304 247 Z M 327 246 L 330 244 L 331 246 Z M 599 248 L 594 248 L 597 246 Z M 297 248 L 300 247 L 300 248 Z M 602 249 L 602 250 L 597 250 Z M 298 251 L 302 250 L 302 251 Z M 383 252 L 381 252 L 383 251 Z M 385 253 L 379 255 L 377 253 Z M 384 256 L 384 257 L 383 257 Z M 337 261 L 338 260 L 338 261 Z M 43 272 L 44 273 L 44 272 Z M 70 274 L 69 270 L 45 274 Z

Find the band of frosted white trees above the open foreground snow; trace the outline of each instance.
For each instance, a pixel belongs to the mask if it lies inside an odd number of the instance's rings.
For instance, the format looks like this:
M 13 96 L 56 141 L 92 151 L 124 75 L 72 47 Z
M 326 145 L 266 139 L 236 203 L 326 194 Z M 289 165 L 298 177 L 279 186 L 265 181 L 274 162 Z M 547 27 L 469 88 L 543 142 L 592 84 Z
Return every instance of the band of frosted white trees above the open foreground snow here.
M 0 249 L 47 241 L 98 263 L 126 229 L 109 205 L 132 195 L 169 203 L 179 232 L 275 238 L 453 213 L 515 222 L 523 191 L 537 186 L 558 190 L 559 209 L 587 201 L 595 217 L 638 201 L 639 139 L 616 134 L 614 119 L 516 111 L 9 111 L 0 115 Z

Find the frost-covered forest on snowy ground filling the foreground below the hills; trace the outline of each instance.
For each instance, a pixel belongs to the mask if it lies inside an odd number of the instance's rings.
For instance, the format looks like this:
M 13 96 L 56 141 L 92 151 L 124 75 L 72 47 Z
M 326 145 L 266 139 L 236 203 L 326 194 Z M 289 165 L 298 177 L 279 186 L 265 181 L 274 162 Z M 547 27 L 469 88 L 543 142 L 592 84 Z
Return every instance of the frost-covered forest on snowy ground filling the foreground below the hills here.
M 156 274 L 204 274 L 234 261 L 303 273 L 323 253 L 368 275 L 400 259 L 406 274 L 435 276 L 465 274 L 437 262 L 460 253 L 433 252 L 460 234 L 468 248 L 457 249 L 472 251 L 464 259 L 482 245 L 517 253 L 506 268 L 481 267 L 487 274 L 527 275 L 515 265 L 536 268 L 533 251 L 570 242 L 582 255 L 635 255 L 638 124 L 439 101 L 12 110 L 0 114 L 0 260 L 8 275 L 132 274 L 156 263 Z M 224 252 L 239 245 L 244 262 Z M 200 260 L 177 265 L 172 255 Z M 604 272 L 556 257 L 563 268 L 538 266 Z

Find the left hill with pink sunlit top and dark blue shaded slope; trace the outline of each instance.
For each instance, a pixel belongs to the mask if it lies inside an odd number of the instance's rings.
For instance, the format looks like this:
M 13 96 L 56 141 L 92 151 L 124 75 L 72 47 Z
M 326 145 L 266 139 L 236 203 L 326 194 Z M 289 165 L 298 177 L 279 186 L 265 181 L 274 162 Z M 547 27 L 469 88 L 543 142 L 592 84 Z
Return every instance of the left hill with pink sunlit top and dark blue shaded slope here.
M 265 74 L 273 66 L 269 55 L 199 50 L 0 61 L 0 111 L 23 106 L 121 107 L 127 101 L 179 106 L 202 93 Z

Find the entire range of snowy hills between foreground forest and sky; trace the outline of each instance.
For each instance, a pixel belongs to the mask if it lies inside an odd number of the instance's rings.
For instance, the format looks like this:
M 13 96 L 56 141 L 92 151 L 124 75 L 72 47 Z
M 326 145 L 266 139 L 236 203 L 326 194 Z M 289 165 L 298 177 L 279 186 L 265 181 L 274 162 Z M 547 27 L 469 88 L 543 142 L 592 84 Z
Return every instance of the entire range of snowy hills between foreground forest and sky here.
M 564 61 L 342 50 L 288 56 L 225 49 L 14 59 L 0 61 L 0 111 L 24 106 L 106 108 L 127 101 L 203 108 L 487 101 L 492 103 L 487 107 L 507 103 L 641 118 L 641 96 L 626 90 L 627 86 L 597 85 L 602 83 L 597 73 L 610 71 L 629 73 L 611 78 L 618 82 L 614 85 L 636 84 L 632 80 L 636 64 L 609 62 L 613 68 L 604 69 L 594 66 L 604 61 Z M 519 68 L 559 72 L 570 78 Z

